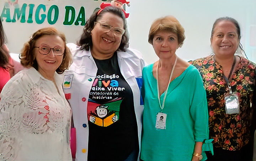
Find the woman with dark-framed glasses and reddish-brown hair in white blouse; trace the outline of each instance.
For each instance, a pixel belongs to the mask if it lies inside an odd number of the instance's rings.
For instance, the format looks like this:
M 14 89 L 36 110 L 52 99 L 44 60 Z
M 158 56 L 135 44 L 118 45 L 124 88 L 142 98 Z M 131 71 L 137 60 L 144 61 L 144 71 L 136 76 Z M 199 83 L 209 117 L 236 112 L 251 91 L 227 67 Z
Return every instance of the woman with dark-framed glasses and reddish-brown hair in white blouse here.
M 4 86 L 0 101 L 1 161 L 71 161 L 71 108 L 62 89 L 71 63 L 65 35 L 43 28 L 20 55 L 28 68 Z

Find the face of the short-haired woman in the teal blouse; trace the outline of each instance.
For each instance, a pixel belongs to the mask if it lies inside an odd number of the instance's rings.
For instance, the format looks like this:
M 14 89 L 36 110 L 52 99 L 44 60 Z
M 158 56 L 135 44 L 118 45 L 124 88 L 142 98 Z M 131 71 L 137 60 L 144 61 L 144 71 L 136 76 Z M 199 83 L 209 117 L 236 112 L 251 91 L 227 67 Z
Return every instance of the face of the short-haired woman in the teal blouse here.
M 153 47 L 160 59 L 171 58 L 179 47 L 178 36 L 176 33 L 160 30 L 154 35 Z

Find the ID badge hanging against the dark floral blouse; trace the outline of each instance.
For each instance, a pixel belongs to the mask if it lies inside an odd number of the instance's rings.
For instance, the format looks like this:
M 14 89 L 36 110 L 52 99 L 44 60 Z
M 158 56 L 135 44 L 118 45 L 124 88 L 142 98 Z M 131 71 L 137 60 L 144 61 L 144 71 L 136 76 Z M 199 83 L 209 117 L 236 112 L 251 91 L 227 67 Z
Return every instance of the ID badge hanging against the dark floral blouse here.
M 239 98 L 237 93 L 225 97 L 226 114 L 238 114 L 240 112 Z

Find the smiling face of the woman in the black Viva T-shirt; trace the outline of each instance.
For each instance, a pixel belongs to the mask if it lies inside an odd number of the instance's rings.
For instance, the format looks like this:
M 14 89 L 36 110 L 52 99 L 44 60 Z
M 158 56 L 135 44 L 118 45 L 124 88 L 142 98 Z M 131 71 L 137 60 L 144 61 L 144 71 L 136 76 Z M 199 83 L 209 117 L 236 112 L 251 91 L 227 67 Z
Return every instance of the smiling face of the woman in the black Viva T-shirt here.
M 113 28 L 124 28 L 123 19 L 113 13 L 106 12 L 98 19 L 100 23 L 111 25 Z M 92 55 L 97 59 L 104 59 L 105 57 L 113 56 L 120 46 L 122 36 L 113 34 L 113 29 L 106 32 L 102 30 L 100 23 L 95 23 L 91 31 L 92 36 Z

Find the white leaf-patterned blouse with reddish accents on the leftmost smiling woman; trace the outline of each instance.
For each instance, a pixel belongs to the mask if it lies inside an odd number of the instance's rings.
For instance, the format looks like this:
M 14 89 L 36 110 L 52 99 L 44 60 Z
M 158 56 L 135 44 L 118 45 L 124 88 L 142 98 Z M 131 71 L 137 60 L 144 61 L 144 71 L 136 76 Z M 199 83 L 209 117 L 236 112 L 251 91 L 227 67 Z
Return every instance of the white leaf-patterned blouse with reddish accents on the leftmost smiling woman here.
M 25 69 L 0 95 L 0 160 L 71 161 L 71 108 L 60 75 L 54 83 Z M 58 92 L 59 91 L 59 92 Z

